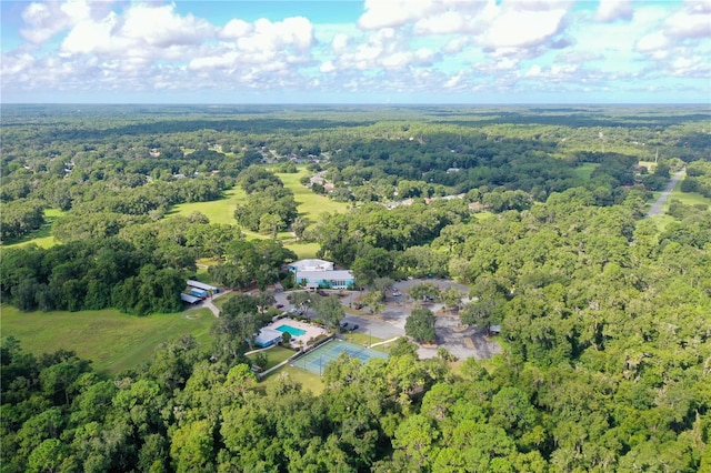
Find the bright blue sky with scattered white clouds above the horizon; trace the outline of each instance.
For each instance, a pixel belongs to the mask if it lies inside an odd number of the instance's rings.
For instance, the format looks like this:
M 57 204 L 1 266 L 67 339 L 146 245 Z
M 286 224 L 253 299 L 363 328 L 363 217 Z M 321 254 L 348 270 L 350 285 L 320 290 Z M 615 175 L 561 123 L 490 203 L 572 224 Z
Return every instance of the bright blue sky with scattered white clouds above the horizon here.
M 4 103 L 711 102 L 711 0 L 0 8 Z

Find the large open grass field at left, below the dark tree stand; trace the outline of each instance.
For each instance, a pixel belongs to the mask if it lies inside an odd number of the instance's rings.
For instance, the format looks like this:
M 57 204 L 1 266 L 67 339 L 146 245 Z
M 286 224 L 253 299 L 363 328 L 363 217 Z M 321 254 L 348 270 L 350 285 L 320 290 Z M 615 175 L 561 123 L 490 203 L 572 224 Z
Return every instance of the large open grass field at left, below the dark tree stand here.
M 202 346 L 212 342 L 214 315 L 208 309 L 174 314 L 134 316 L 116 310 L 30 312 L 0 308 L 2 336 L 20 340 L 34 354 L 73 350 L 93 361 L 93 369 L 109 374 L 139 368 L 163 342 L 191 334 Z

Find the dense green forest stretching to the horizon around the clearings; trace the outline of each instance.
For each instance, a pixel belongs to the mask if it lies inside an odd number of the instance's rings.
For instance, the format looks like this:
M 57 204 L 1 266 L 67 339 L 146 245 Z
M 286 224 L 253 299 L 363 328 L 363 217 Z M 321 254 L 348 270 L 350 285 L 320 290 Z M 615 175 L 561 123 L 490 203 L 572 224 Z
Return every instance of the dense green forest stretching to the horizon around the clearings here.
M 114 376 L 71 351 L 1 352 L 2 471 L 695 472 L 711 470 L 711 211 L 648 202 L 672 173 L 709 198 L 701 107 L 8 105 L 3 304 L 181 310 L 196 262 L 229 288 L 289 284 L 318 245 L 360 284 L 450 278 L 492 360 L 327 366 L 324 390 L 244 356 L 260 301 Z M 299 214 L 279 175 L 347 202 Z M 177 204 L 239 190 L 233 223 Z M 248 234 L 249 233 L 249 234 Z M 431 314 L 418 313 L 418 320 Z M 415 322 L 413 319 L 412 323 Z M 428 322 L 429 323 L 429 322 Z M 427 339 L 424 336 L 423 339 Z

